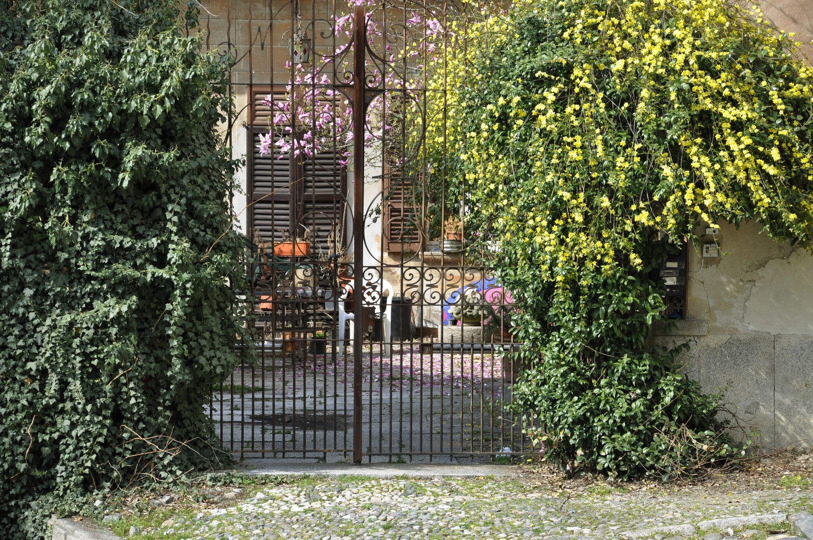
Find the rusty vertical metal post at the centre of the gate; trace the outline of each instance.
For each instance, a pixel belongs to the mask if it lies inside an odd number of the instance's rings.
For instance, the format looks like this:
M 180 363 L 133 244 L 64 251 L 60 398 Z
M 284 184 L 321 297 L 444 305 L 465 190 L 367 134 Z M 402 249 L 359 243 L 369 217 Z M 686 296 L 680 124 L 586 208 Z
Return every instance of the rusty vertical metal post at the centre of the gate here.
M 364 272 L 364 46 L 367 42 L 365 10 L 354 11 L 353 37 L 353 462 L 362 457 L 362 335 Z

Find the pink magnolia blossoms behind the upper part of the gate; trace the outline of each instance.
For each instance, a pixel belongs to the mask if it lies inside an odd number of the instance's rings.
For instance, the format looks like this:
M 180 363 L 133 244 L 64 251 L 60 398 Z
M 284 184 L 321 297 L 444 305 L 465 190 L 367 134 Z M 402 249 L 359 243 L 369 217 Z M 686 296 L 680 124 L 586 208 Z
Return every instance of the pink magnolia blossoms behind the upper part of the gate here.
M 349 0 L 349 7 L 375 7 L 374 0 Z M 352 10 L 351 10 L 352 11 Z M 406 29 L 402 25 L 385 25 L 373 18 L 374 11 L 367 12 L 368 46 L 376 50 L 376 45 L 389 58 L 389 63 L 376 63 L 367 55 L 366 84 L 397 90 L 399 98 L 379 95 L 368 107 L 369 114 L 364 128 L 364 145 L 370 148 L 376 141 L 393 139 L 402 134 L 405 105 L 415 102 L 422 88 L 422 77 L 404 76 L 405 72 L 420 71 L 423 64 L 408 59 L 422 54 L 433 54 L 438 42 L 442 42 L 444 32 L 436 19 L 424 18 L 420 11 L 410 11 L 406 28 L 417 37 L 406 38 L 394 35 L 393 28 Z M 349 13 L 335 20 L 334 32 L 337 36 L 352 36 L 353 15 Z M 354 144 L 354 122 L 350 96 L 337 89 L 349 81 L 342 80 L 351 72 L 351 43 L 337 46 L 332 55 L 318 54 L 321 65 L 286 64 L 293 77 L 286 86 L 285 99 L 275 99 L 269 94 L 263 103 L 272 111 L 269 117 L 269 131 L 260 136 L 259 153 L 275 153 L 278 159 L 287 156 L 307 156 L 313 158 L 324 153 L 333 153 L 337 162 L 346 165 Z M 398 69 L 397 69 L 398 68 Z M 329 73 L 329 75 L 328 75 Z M 276 148 L 276 150 L 275 150 Z

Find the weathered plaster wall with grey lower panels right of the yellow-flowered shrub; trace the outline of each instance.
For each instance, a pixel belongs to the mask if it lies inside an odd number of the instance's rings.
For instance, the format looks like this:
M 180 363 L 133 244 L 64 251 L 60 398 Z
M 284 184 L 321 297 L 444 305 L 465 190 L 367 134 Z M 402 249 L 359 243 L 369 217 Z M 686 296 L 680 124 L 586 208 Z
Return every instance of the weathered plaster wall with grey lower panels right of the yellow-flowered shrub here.
M 759 229 L 721 223 L 723 255 L 691 250 L 689 317 L 654 341 L 688 340 L 686 372 L 764 443 L 813 446 L 813 257 Z

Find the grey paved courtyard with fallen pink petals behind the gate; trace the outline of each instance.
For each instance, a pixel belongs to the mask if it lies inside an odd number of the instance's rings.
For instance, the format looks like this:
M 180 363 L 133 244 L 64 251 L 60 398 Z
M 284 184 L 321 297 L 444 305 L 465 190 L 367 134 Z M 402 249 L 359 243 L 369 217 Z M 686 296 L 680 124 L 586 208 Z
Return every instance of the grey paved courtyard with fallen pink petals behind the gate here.
M 503 377 L 502 350 L 436 349 L 365 351 L 365 459 L 448 462 L 474 453 L 490 461 L 530 451 L 519 418 L 505 407 L 511 381 Z M 351 355 L 268 354 L 215 389 L 211 416 L 224 446 L 247 459 L 346 462 L 352 460 L 353 388 Z

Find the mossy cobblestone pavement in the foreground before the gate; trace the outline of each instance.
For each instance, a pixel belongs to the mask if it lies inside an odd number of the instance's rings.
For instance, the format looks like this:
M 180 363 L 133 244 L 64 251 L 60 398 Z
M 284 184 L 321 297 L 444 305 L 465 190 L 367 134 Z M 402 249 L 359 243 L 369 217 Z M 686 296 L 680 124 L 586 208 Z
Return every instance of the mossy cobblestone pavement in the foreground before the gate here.
M 794 470 L 767 481 L 732 481 L 723 475 L 694 486 L 607 484 L 539 474 L 517 479 L 298 477 L 203 489 L 199 496 L 208 498 L 203 503 L 165 497 L 168 505 L 161 507 L 160 500 L 151 499 L 146 504 L 150 510 L 132 505 L 124 516 L 107 516 L 106 525 L 124 538 L 139 540 L 757 540 L 787 532 L 784 516 L 813 511 L 809 468 Z M 702 525 L 749 516 L 761 518 Z M 691 527 L 669 528 L 676 525 Z

